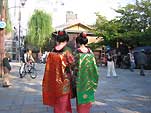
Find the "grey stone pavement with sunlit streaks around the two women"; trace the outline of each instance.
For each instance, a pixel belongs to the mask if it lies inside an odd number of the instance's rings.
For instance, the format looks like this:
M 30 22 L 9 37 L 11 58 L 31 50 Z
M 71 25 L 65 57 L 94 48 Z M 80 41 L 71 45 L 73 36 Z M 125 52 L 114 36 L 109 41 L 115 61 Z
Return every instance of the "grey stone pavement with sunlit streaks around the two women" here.
M 20 64 L 11 63 L 10 88 L 0 87 L 0 113 L 53 113 L 41 98 L 44 64 L 37 64 L 38 77 L 19 78 Z M 100 80 L 91 113 L 151 113 L 151 70 L 139 76 L 139 70 L 116 69 L 118 78 L 106 78 L 106 67 L 99 67 Z M 0 79 L 1 83 L 1 79 Z M 73 113 L 76 113 L 72 99 Z

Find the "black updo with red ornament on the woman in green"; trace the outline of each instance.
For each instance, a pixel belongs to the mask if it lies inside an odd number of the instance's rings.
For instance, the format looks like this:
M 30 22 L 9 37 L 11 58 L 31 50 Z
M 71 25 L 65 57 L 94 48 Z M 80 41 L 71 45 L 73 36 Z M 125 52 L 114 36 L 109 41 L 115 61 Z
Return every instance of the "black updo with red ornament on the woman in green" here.
M 87 39 L 87 34 L 85 32 L 80 33 L 80 35 L 76 38 L 76 43 L 77 44 L 87 44 L 88 39 Z

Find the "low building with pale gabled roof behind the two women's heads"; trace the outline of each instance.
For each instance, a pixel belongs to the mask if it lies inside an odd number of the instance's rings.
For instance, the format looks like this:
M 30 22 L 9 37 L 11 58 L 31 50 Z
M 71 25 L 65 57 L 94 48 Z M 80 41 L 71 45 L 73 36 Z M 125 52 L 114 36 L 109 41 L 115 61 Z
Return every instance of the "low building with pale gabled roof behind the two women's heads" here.
M 90 43 L 98 43 L 102 41 L 102 37 L 96 36 L 92 31 L 93 28 L 85 25 L 84 23 L 79 22 L 78 20 L 68 22 L 64 25 L 57 26 L 56 32 L 59 30 L 65 30 L 68 35 L 69 35 L 69 42 L 68 46 L 71 47 L 73 50 L 76 48 L 76 37 L 81 33 L 81 32 L 86 32 L 87 33 L 87 38 L 88 38 L 88 44 Z M 53 35 L 56 33 L 54 32 Z M 100 63 L 100 53 L 101 49 L 97 49 L 94 51 L 95 57 L 97 59 L 97 63 Z

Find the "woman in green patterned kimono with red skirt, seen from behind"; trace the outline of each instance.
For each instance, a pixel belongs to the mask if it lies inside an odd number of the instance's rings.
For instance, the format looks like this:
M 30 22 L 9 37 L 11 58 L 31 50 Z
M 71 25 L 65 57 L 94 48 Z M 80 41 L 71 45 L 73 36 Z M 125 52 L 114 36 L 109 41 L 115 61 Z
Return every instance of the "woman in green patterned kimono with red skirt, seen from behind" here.
M 86 47 L 88 39 L 82 32 L 76 38 L 77 50 L 75 56 L 74 73 L 76 77 L 76 102 L 78 113 L 89 113 L 94 94 L 98 85 L 98 68 L 93 52 Z

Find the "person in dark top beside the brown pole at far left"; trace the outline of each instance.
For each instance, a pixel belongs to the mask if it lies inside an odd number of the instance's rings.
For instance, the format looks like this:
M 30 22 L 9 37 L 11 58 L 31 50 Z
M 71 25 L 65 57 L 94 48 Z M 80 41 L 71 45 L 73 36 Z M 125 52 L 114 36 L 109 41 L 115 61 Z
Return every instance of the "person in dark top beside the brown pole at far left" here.
M 3 58 L 3 71 L 4 71 L 4 76 L 3 76 L 3 87 L 9 87 L 11 86 L 10 84 L 10 71 L 11 71 L 11 65 L 9 63 L 9 53 L 5 53 L 5 56 Z

